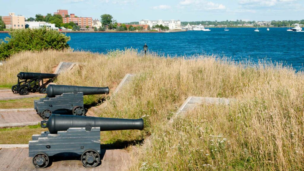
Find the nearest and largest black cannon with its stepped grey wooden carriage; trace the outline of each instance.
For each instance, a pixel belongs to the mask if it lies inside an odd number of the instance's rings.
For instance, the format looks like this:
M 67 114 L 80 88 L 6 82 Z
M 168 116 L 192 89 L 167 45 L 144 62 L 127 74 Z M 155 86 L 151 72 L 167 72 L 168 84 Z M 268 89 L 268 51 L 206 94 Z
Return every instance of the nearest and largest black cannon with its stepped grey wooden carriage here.
M 29 157 L 36 168 L 50 165 L 50 156 L 58 153 L 76 153 L 85 167 L 100 162 L 100 131 L 143 130 L 143 119 L 83 117 L 74 115 L 50 116 L 41 121 L 49 131 L 33 135 L 29 141 Z

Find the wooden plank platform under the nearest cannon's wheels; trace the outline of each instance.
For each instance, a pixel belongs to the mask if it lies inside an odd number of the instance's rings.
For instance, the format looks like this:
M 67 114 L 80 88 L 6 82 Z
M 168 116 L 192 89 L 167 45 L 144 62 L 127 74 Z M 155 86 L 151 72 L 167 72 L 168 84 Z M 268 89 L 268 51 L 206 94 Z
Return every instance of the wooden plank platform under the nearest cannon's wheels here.
M 56 170 L 56 171 L 115 171 L 127 170 L 130 166 L 130 155 L 126 150 L 121 149 L 102 149 L 101 164 L 95 168 L 85 168 L 82 166 L 78 156 L 62 154 L 53 159 L 51 166 L 44 169 L 36 169 L 32 164 L 32 158 L 28 157 L 28 148 L 2 148 L 0 150 L 0 170 Z

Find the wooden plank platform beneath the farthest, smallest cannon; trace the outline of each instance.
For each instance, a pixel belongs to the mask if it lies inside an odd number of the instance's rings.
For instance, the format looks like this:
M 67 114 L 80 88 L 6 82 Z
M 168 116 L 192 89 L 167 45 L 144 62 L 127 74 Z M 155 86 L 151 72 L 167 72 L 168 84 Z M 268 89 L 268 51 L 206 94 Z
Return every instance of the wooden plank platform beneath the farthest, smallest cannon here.
M 19 94 L 14 94 L 11 89 L 0 90 L 0 100 L 24 99 L 43 96 L 45 96 L 45 94 L 40 93 L 29 93 L 28 95 L 21 96 Z

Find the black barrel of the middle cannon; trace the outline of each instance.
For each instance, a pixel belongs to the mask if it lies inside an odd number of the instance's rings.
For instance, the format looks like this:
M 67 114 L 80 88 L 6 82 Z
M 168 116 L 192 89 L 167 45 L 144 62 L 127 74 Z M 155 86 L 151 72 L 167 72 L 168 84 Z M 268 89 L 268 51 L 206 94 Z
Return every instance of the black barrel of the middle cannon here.
M 75 94 L 83 92 L 83 95 L 109 94 L 109 87 L 81 87 L 73 85 L 49 85 L 47 87 L 48 97 L 55 97 L 69 92 L 74 92 Z

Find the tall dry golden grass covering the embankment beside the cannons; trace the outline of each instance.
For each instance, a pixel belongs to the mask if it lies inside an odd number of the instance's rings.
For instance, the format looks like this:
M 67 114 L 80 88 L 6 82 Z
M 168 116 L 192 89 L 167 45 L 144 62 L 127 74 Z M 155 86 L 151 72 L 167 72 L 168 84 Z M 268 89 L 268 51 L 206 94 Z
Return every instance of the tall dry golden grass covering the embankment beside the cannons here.
M 303 168 L 302 73 L 267 63 L 236 64 L 213 56 L 143 56 L 134 50 L 106 55 L 52 51 L 32 55 L 44 58 L 47 53 L 56 56 L 53 66 L 68 54 L 81 56 L 79 60 L 85 62 L 61 74 L 58 84 L 114 89 L 126 73 L 136 74 L 98 111 L 102 117 L 144 118 L 144 131 L 110 134 L 109 143 L 132 143 L 151 136 L 149 145 L 139 146 L 130 170 Z M 9 69 L 5 75 L 6 71 Z M 230 106 L 202 105 L 168 126 L 168 120 L 188 96 L 236 98 L 237 102 Z

